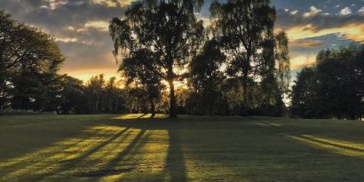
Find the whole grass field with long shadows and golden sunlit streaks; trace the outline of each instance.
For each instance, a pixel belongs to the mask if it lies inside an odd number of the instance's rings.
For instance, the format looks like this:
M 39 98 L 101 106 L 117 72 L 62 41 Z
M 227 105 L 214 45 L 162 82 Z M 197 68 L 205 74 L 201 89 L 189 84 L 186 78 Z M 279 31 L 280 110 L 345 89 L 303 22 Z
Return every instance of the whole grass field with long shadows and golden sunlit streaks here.
M 0 116 L 1 181 L 364 181 L 364 123 Z

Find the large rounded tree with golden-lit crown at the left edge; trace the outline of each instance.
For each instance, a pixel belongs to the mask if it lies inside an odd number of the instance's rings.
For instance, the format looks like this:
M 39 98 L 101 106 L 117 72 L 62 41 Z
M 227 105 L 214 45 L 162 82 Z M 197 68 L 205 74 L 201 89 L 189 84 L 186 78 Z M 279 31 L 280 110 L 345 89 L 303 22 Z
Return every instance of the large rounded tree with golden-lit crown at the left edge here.
M 26 105 L 32 102 L 33 109 L 53 109 L 59 91 L 57 71 L 63 61 L 52 36 L 0 11 L 0 108 L 8 106 L 6 99 L 12 98 L 20 108 L 30 109 Z M 24 88 L 26 84 L 29 87 Z

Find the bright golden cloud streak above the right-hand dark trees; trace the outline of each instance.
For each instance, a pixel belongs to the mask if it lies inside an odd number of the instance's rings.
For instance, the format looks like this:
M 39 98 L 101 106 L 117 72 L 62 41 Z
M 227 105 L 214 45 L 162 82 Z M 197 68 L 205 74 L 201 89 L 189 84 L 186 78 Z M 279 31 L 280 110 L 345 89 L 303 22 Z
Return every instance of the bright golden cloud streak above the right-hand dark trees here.
M 290 40 L 298 40 L 307 37 L 325 36 L 328 34 L 340 34 L 357 42 L 364 42 L 364 24 L 348 24 L 341 28 L 324 28 L 317 30 L 312 24 L 289 28 L 287 35 Z

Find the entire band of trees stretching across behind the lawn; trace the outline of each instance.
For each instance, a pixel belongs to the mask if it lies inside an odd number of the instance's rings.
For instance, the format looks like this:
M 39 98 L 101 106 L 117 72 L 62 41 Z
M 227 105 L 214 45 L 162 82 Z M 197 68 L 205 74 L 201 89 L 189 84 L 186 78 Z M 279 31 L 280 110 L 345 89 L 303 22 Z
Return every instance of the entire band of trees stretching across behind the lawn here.
M 269 1 L 213 1 L 208 22 L 195 17 L 202 4 L 140 1 L 110 20 L 123 82 L 59 75 L 65 58 L 54 38 L 0 12 L 0 110 L 362 116 L 363 46 L 320 51 L 289 91 L 289 40 L 273 31 Z

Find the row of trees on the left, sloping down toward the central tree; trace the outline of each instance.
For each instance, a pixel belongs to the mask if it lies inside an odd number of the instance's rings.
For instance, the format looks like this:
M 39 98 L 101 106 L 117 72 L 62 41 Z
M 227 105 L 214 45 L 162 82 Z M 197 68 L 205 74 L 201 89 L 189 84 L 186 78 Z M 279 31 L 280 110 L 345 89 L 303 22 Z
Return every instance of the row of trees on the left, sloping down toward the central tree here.
M 96 114 L 144 112 L 145 91 L 121 89 L 115 77 L 87 83 L 57 72 L 65 58 L 54 38 L 0 12 L 0 112 Z

